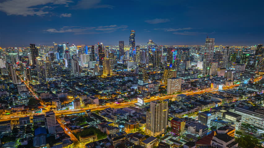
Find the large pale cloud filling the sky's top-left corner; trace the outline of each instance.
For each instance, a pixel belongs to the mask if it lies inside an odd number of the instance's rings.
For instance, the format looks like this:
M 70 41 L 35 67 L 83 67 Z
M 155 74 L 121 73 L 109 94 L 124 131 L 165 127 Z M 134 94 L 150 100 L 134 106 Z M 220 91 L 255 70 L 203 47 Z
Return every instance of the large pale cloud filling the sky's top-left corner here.
M 44 16 L 49 10 L 54 9 L 51 5 L 68 5 L 71 0 L 7 0 L 0 3 L 0 11 L 7 15 L 37 15 Z

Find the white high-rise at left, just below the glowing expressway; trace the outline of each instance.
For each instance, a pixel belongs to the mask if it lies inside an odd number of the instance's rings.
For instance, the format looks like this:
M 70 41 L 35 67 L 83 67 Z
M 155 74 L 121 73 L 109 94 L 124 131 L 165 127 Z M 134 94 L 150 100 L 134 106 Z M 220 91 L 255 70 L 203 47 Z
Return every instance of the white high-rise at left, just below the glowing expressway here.
M 56 132 L 56 117 L 53 111 L 46 112 L 45 125 L 49 134 L 55 134 Z

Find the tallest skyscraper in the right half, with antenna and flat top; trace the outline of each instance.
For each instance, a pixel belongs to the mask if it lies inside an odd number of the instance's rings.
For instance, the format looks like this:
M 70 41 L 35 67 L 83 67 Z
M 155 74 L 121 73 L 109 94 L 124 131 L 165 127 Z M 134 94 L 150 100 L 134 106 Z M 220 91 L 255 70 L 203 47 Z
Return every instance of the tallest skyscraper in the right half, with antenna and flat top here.
M 213 51 L 214 51 L 214 39 L 206 38 L 205 39 L 205 51 L 204 51 L 204 62 L 203 62 L 203 74 L 209 74 L 209 66 L 213 61 Z

